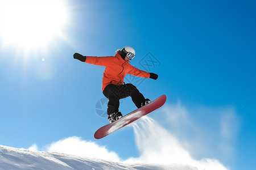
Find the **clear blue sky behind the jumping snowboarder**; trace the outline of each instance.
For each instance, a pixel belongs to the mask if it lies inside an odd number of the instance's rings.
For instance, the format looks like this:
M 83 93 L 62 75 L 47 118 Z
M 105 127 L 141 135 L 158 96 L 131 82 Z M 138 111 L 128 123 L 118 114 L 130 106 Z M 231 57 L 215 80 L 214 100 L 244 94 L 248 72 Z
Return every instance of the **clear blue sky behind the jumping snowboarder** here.
M 0 2 L 5 5 L 7 1 Z M 104 67 L 73 59 L 75 52 L 114 56 L 115 50 L 129 45 L 136 51 L 131 65 L 154 72 L 159 79 L 138 83 L 127 76 L 126 82 L 136 84 L 151 100 L 166 94 L 165 109 L 185 108 L 187 113 L 175 126 L 181 129 L 179 133 L 174 125 L 167 125 L 162 114 L 154 112 L 150 117 L 180 141 L 193 141 L 194 147 L 209 139 L 205 148 L 210 149 L 205 152 L 188 147 L 196 159 L 218 159 L 230 169 L 255 167 L 255 1 L 76 0 L 65 4 L 67 17 L 61 31 L 43 39 L 38 35 L 51 28 L 46 23 L 35 32 L 38 41 L 31 37 L 34 43 L 26 40 L 26 46 L 18 40 L 7 43 L 3 23 L 11 18 L 1 13 L 0 145 L 28 148 L 36 144 L 44 150 L 52 142 L 77 136 L 106 146 L 121 159 L 139 156 L 139 139 L 131 127 L 101 140 L 93 138 L 108 123 L 96 113 L 96 103 L 104 98 Z M 30 34 L 20 31 L 21 27 L 29 30 L 20 24 L 8 33 Z M 152 65 L 148 57 L 158 64 Z M 151 66 L 146 68 L 145 61 Z M 133 109 L 130 98 L 122 100 L 122 113 Z M 222 132 L 228 136 L 232 156 L 214 148 L 223 137 L 216 129 L 226 117 L 229 124 L 223 121 Z M 193 127 L 185 125 L 189 118 Z M 196 133 L 195 126 L 205 131 Z M 199 136 L 186 137 L 192 129 Z

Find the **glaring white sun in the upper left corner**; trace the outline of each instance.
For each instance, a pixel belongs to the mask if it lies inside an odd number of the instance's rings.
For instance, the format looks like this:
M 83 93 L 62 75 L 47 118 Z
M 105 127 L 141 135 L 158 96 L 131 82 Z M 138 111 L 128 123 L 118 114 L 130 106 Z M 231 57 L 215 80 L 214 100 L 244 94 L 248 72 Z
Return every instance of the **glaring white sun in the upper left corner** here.
M 68 15 L 64 0 L 0 0 L 0 39 L 18 49 L 45 49 L 65 36 Z

